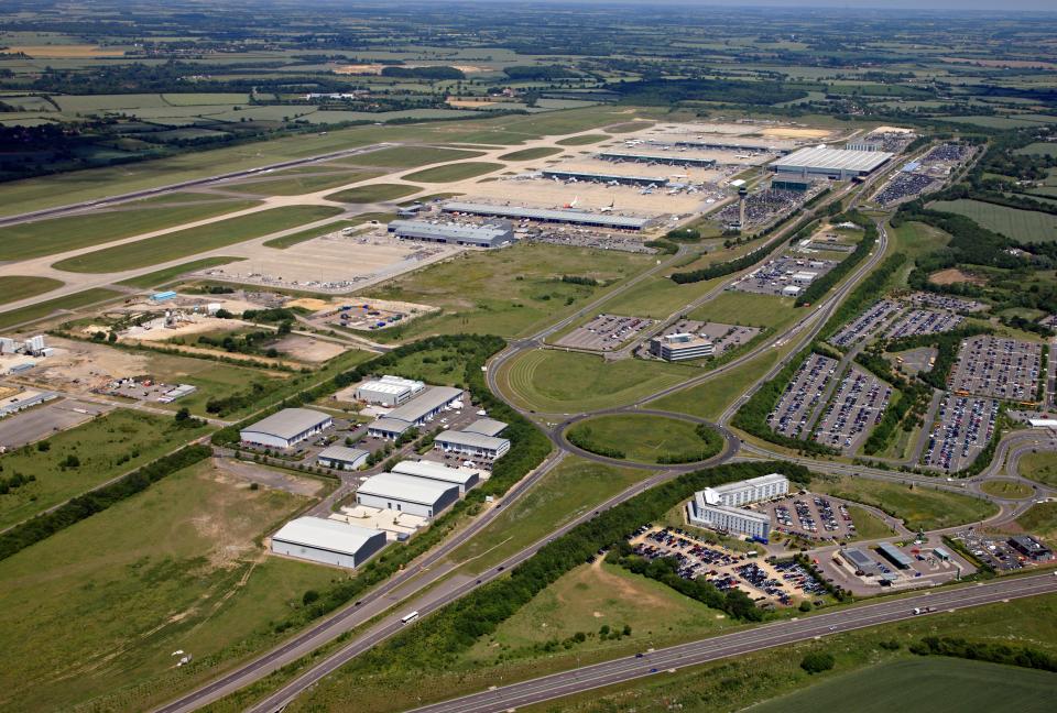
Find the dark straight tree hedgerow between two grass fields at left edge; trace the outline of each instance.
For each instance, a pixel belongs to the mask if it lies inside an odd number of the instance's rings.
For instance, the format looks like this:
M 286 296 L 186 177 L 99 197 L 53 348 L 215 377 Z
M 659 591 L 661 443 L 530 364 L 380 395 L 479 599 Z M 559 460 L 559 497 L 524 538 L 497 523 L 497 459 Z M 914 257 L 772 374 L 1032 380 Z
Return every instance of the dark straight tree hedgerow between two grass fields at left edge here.
M 86 517 L 100 513 L 146 490 L 152 483 L 194 465 L 211 454 L 213 449 L 208 446 L 185 446 L 175 453 L 160 458 L 109 485 L 75 497 L 54 511 L 17 525 L 0 534 L 0 559 L 7 559 L 30 545 L 40 542 Z

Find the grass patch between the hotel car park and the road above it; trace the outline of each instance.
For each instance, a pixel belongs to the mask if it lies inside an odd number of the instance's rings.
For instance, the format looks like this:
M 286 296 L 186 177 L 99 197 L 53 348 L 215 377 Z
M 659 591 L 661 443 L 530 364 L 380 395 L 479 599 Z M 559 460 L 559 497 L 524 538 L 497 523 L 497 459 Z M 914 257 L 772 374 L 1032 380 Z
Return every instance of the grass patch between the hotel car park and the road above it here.
M 909 487 L 898 483 L 872 481 L 864 478 L 817 478 L 810 489 L 833 497 L 873 505 L 901 518 L 916 530 L 940 529 L 982 520 L 998 512 L 989 503 L 969 495 L 947 491 Z

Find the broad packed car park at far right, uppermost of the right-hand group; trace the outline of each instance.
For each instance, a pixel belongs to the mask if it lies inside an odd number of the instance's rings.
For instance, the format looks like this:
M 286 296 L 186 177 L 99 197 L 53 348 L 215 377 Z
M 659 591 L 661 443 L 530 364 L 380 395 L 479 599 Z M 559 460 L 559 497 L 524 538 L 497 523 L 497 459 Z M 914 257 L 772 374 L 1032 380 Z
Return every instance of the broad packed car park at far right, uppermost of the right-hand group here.
M 950 390 L 959 395 L 1034 402 L 1042 374 L 1043 347 L 988 334 L 962 340 Z

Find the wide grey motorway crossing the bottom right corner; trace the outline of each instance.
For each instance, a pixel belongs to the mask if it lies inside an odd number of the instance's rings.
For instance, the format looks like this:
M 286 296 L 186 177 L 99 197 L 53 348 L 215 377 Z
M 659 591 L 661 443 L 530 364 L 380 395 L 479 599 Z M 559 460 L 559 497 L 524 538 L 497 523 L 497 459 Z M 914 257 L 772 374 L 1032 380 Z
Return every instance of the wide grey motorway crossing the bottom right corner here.
M 426 705 L 415 711 L 417 713 L 499 713 L 647 676 L 663 676 L 665 672 L 687 666 L 759 651 L 783 644 L 913 618 L 914 607 L 930 606 L 938 612 L 951 612 L 969 606 L 1055 592 L 1057 592 L 1057 578 L 1051 574 L 926 592 L 916 596 L 852 606 L 803 619 L 766 624 L 734 634 L 660 649 L 642 658 L 625 657 L 585 666 L 453 701 Z

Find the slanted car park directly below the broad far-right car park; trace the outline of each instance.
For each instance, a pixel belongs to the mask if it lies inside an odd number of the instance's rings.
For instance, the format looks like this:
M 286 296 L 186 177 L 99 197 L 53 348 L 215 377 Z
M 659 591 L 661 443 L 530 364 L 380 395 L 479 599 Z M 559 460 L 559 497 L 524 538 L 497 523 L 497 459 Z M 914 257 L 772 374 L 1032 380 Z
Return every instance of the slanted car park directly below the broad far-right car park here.
M 960 471 L 987 447 L 998 418 L 999 402 L 993 398 L 947 394 L 940 402 L 922 463 L 948 473 Z

